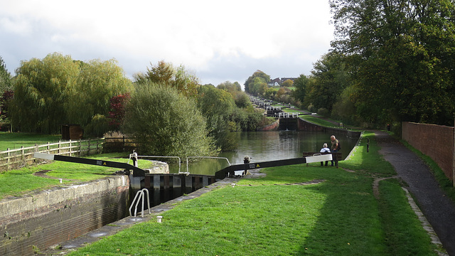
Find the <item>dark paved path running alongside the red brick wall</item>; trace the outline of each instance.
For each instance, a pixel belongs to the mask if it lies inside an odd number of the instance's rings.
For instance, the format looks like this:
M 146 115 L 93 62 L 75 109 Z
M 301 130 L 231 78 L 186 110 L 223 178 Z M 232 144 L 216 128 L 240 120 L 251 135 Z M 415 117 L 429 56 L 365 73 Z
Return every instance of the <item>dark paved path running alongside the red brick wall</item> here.
M 455 256 L 455 204 L 444 195 L 424 162 L 385 132 L 376 132 L 379 151 L 408 185 L 449 255 Z

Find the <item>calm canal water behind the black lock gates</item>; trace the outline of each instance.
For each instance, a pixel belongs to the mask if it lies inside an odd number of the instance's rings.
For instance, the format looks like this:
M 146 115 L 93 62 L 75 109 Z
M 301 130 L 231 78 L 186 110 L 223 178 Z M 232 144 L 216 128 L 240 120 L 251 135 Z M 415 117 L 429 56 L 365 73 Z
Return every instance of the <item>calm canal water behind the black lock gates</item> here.
M 215 175 L 216 171 L 234 164 L 243 164 L 244 156 L 250 156 L 251 163 L 292 159 L 301 157 L 304 151 L 319 152 L 324 143 L 331 147 L 331 133 L 306 131 L 237 132 L 237 149 L 222 152 L 225 159 L 200 159 L 188 164 L 191 174 Z M 336 135 L 341 144 L 343 158 L 348 156 L 358 138 Z M 228 162 L 229 161 L 229 162 Z M 169 166 L 171 173 L 178 173 L 178 164 Z M 181 171 L 187 171 L 186 159 L 182 159 Z

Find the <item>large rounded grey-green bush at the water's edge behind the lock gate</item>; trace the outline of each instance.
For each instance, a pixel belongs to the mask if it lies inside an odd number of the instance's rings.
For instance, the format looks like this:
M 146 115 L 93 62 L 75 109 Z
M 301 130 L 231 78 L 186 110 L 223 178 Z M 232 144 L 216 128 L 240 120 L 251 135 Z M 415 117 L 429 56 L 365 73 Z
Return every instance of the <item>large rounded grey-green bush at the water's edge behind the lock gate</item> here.
M 137 138 L 141 154 L 185 158 L 218 152 L 206 127 L 196 100 L 176 88 L 144 82 L 127 104 L 122 131 Z

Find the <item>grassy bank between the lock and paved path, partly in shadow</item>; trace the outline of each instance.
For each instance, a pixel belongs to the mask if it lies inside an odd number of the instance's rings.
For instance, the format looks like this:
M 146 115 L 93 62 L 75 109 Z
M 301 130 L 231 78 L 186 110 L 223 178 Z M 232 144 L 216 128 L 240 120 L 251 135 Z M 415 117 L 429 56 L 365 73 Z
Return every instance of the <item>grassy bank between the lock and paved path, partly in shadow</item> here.
M 134 225 L 70 255 L 437 255 L 400 183 L 361 144 L 340 169 L 295 165 L 262 169 L 200 198 L 183 201 L 163 223 Z M 306 184 L 318 180 L 318 183 Z

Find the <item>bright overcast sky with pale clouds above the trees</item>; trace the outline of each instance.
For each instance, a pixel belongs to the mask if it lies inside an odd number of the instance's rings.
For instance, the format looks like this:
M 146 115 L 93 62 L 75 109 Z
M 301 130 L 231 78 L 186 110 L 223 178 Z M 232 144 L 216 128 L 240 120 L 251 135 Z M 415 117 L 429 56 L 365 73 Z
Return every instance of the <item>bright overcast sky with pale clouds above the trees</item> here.
M 328 0 L 0 0 L 0 56 L 11 75 L 49 53 L 116 59 L 125 74 L 159 60 L 203 84 L 309 75 L 333 40 Z

